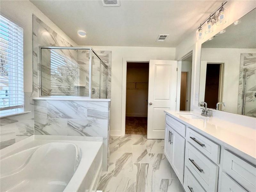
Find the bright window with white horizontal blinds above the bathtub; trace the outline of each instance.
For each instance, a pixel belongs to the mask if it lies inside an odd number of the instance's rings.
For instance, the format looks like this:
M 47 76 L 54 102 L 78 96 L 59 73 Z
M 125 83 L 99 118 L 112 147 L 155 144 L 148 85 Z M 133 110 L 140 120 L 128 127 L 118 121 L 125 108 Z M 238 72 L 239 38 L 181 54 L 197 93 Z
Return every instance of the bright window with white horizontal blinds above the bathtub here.
M 23 111 L 23 28 L 2 15 L 0 15 L 0 96 L 0 114 Z

